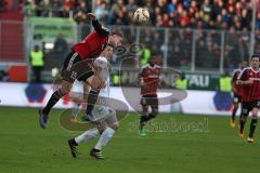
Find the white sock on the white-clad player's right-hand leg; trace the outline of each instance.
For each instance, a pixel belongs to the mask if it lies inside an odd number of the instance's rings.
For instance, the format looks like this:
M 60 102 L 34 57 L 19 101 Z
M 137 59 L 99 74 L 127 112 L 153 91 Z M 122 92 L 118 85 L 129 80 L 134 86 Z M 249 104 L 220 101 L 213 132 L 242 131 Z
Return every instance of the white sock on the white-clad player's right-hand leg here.
M 99 142 L 95 145 L 95 149 L 102 150 L 103 147 L 107 145 L 107 143 L 113 137 L 115 131 L 112 128 L 106 128 L 105 131 L 101 134 Z

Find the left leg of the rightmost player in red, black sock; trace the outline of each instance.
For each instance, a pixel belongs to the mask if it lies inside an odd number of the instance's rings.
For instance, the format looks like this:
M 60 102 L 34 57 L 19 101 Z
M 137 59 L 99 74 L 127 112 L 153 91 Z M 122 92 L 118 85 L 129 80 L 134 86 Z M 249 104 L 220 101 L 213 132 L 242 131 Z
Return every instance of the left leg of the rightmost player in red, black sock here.
M 250 111 L 250 103 L 243 102 L 242 103 L 242 112 L 240 112 L 240 119 L 239 119 L 239 125 L 238 125 L 238 137 L 244 137 L 244 128 L 247 120 L 247 117 Z

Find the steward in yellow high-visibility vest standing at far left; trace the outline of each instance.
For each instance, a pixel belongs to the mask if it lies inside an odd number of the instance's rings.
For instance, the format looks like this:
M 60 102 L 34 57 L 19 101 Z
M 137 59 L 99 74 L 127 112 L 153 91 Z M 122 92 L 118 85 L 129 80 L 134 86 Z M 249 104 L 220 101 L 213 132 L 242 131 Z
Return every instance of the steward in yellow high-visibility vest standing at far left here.
M 44 54 L 39 49 L 38 45 L 35 45 L 34 50 L 30 51 L 30 65 L 34 71 L 35 81 L 37 83 L 41 82 L 41 71 L 44 66 Z

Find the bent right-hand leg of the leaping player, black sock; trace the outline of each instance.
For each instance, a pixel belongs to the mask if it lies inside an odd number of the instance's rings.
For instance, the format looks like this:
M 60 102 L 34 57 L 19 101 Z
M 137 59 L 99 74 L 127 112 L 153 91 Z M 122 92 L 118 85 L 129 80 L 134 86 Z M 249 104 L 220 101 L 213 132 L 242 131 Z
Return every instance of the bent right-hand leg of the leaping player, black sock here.
M 105 82 L 98 76 L 91 76 L 87 80 L 90 83 L 91 90 L 87 98 L 86 115 L 82 117 L 87 121 L 91 121 L 93 117 L 91 116 L 94 105 L 96 103 L 100 90 L 105 85 Z

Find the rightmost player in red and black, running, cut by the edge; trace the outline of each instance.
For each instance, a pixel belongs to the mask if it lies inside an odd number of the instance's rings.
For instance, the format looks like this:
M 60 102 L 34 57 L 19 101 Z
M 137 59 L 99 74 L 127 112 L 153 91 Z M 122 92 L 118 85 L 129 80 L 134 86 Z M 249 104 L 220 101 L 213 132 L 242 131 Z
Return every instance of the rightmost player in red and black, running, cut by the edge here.
M 260 107 L 260 56 L 252 55 L 250 67 L 244 68 L 237 84 L 242 85 L 242 114 L 238 127 L 238 136 L 244 137 L 244 127 L 249 112 L 251 111 L 250 132 L 247 138 L 248 143 L 253 143 L 253 132 L 257 128 L 258 110 Z

